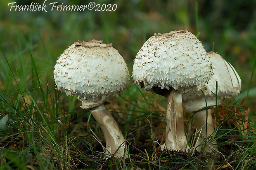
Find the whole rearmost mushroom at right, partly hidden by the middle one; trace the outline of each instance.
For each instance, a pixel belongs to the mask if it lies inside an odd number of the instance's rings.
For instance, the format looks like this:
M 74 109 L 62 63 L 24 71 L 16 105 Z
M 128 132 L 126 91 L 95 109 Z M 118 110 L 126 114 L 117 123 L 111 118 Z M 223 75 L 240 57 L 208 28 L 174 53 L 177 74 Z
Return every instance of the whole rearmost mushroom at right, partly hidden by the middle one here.
M 213 64 L 214 75 L 211 77 L 208 84 L 206 84 L 207 89 L 202 90 L 204 94 L 194 88 L 189 93 L 183 94 L 182 99 L 187 112 L 196 112 L 197 128 L 202 128 L 201 135 L 203 135 L 204 138 L 211 139 L 211 136 L 214 133 L 211 108 L 216 106 L 216 95 L 217 104 L 220 104 L 223 98 L 230 98 L 231 96 L 238 95 L 241 90 L 241 79 L 235 71 L 235 68 L 233 68 L 233 66 L 225 61 L 219 54 L 211 51 L 208 53 L 208 56 Z M 216 82 L 218 82 L 217 94 Z M 195 145 L 198 151 L 202 150 L 202 145 L 200 144 L 203 142 L 204 140 L 199 137 L 199 140 Z M 215 145 L 216 140 L 211 142 L 211 144 Z M 211 149 L 206 149 L 206 151 L 211 152 Z

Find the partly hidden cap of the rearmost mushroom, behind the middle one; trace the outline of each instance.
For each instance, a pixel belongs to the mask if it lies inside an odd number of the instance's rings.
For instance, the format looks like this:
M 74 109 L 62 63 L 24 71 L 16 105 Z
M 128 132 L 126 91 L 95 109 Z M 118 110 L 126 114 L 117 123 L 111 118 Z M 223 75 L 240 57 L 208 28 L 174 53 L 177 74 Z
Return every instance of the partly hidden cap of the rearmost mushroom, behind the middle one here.
M 235 68 L 225 61 L 219 54 L 209 52 L 208 56 L 213 64 L 213 73 L 211 80 L 207 84 L 207 90 L 203 90 L 206 96 L 207 106 L 216 105 L 216 81 L 218 82 L 218 98 L 230 98 L 238 95 L 241 90 L 241 79 Z M 213 94 L 213 93 L 214 94 Z M 195 112 L 206 107 L 204 95 L 201 91 L 193 89 L 189 93 L 183 94 L 183 105 L 188 112 Z M 221 100 L 218 99 L 218 104 Z

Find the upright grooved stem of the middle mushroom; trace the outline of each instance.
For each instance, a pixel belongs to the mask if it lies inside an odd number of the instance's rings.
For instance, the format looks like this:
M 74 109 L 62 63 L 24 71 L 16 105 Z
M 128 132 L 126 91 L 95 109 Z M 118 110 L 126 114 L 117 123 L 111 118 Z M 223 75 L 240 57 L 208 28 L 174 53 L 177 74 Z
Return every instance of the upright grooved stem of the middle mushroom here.
M 187 139 L 184 132 L 182 95 L 172 89 L 167 101 L 165 148 L 185 151 Z

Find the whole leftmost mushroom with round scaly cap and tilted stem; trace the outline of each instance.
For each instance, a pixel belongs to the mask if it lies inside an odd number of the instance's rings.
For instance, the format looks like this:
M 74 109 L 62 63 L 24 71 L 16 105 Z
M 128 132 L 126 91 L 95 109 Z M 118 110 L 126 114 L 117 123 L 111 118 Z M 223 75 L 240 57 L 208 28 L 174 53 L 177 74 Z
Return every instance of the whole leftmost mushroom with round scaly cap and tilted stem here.
M 54 79 L 57 90 L 77 95 L 81 108 L 89 109 L 100 124 L 106 141 L 106 155 L 126 158 L 126 142 L 114 118 L 104 107 L 127 88 L 130 76 L 125 61 L 112 44 L 78 41 L 59 57 Z

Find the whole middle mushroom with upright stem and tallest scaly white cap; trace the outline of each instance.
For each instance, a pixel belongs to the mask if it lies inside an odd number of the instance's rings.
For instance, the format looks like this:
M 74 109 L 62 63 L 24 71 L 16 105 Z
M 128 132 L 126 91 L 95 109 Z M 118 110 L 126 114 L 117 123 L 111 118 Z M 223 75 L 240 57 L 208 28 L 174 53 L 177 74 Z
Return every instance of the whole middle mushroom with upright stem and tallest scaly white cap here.
M 187 30 L 155 33 L 140 48 L 132 77 L 140 88 L 163 95 L 168 101 L 165 149 L 186 150 L 181 94 L 194 87 L 205 88 L 212 74 L 204 47 Z

